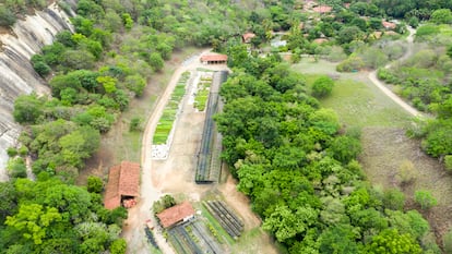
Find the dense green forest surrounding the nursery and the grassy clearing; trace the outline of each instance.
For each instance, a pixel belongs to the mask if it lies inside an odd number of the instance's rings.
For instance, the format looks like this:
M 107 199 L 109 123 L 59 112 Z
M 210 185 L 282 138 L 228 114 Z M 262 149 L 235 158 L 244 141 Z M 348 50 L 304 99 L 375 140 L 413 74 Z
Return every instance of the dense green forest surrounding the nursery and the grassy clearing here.
M 127 210 L 103 207 L 100 179 L 90 178 L 87 186 L 74 181 L 100 135 L 186 46 L 229 56 L 234 73 L 222 88 L 224 113 L 216 117 L 225 136 L 223 156 L 263 228 L 289 253 L 381 253 L 382 247 L 440 253 L 428 222 L 403 209 L 402 192 L 366 181 L 356 161 L 359 131 L 343 130 L 333 110 L 320 108 L 304 76 L 289 71 L 277 52 L 290 51 L 294 62 L 301 53 L 325 56 L 342 61 L 338 71 L 377 69 L 406 50 L 392 40 L 403 36 L 405 23 L 420 22 L 416 41 L 428 46 L 394 70 L 381 69 L 379 77 L 437 117 L 408 134 L 424 138 L 425 150 L 452 170 L 452 2 L 324 0 L 319 2 L 335 15 L 318 19 L 301 10 L 302 1 L 236 2 L 78 1 L 75 33 L 60 33 L 32 58 L 51 98 L 32 94 L 15 101 L 14 119 L 26 128 L 22 146 L 8 150 L 12 180 L 0 183 L 0 253 L 124 253 L 118 235 Z M 46 4 L 2 2 L 0 26 Z M 69 8 L 64 1 L 59 5 Z M 397 24 L 394 37 L 377 38 L 381 22 L 391 19 L 405 23 Z M 251 45 L 259 49 L 279 31 L 288 32 L 287 46 L 266 58 L 250 55 L 240 40 L 252 32 Z M 318 38 L 329 41 L 319 45 Z M 332 85 L 319 80 L 312 95 L 325 96 Z M 26 156 L 33 158 L 35 181 L 25 179 Z M 418 202 L 427 210 L 433 205 L 428 193 Z

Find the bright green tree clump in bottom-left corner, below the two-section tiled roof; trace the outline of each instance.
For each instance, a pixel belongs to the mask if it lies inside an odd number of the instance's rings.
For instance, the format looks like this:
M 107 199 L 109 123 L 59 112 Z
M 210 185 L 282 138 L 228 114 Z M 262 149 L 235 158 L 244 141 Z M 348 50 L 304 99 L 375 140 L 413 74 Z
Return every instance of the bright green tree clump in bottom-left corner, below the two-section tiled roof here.
M 86 253 L 88 249 L 97 253 L 118 239 L 121 221 L 104 219 L 116 217 L 116 211 L 103 208 L 102 197 L 96 198 L 83 188 L 55 178 L 35 182 L 19 179 L 8 189 L 3 183 L 0 188 L 4 198 L 1 204 L 11 206 L 0 241 L 5 253 Z M 116 249 L 123 250 L 123 243 L 116 243 L 121 246 Z

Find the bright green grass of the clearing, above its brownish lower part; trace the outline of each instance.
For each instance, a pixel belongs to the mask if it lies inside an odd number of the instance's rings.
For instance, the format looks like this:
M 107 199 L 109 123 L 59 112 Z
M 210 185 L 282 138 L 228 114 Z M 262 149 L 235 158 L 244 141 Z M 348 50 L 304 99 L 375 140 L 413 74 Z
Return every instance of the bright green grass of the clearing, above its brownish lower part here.
M 412 119 L 399 105 L 388 98 L 367 77 L 367 73 L 338 73 L 335 63 L 302 59 L 293 70 L 305 74 L 307 90 L 322 75 L 335 75 L 333 92 L 320 99 L 321 107 L 337 112 L 345 126 L 406 126 Z

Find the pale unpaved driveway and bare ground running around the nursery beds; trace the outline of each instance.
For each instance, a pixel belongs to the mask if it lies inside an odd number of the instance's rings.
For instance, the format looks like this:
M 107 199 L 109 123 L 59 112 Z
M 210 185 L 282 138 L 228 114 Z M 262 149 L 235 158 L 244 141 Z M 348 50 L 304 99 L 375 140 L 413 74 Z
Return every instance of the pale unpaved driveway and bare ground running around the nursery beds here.
M 202 53 L 207 51 L 205 50 Z M 195 154 L 202 137 L 205 113 L 197 112 L 193 106 L 188 105 L 188 96 L 183 98 L 182 110 L 174 124 L 176 131 L 168 158 L 165 160 L 152 159 L 152 140 L 165 105 L 170 98 L 180 75 L 186 71 L 194 71 L 197 68 L 226 69 L 225 65 L 203 65 L 199 62 L 199 56 L 193 57 L 175 71 L 164 94 L 158 99 L 143 134 L 141 196 L 138 205 L 129 209 L 129 218 L 124 221 L 122 228 L 122 237 L 128 242 L 128 253 L 151 253 L 150 244 L 146 242 L 144 234 L 144 221 L 152 218 L 152 204 L 166 193 L 174 194 L 176 198 L 191 202 L 200 201 L 204 195 L 212 195 L 212 193 L 218 194 L 224 196 L 226 202 L 243 218 L 246 229 L 260 227 L 261 221 L 250 210 L 249 199 L 237 192 L 236 182 L 230 179 L 230 176 L 228 181 L 222 184 L 199 185 L 194 183 Z M 164 254 L 175 253 L 162 235 L 162 231 L 158 227 L 156 228 L 154 237 L 162 252 Z M 265 239 L 265 241 L 261 241 L 263 243 L 258 246 L 261 253 L 277 253 L 272 243 L 266 241 L 266 234 L 263 234 L 262 239 Z

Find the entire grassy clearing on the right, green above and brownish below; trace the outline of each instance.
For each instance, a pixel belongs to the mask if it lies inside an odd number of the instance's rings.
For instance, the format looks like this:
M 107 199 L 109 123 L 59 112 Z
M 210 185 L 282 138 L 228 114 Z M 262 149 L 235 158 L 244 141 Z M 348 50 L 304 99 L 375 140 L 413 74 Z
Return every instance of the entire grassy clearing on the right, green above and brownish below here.
M 321 75 L 340 76 L 332 95 L 321 99 L 322 107 L 334 109 L 342 123 L 361 129 L 362 154 L 359 161 L 369 181 L 381 189 L 395 188 L 406 195 L 406 209 L 418 209 L 430 222 L 441 242 L 444 232 L 452 228 L 452 176 L 420 149 L 420 142 L 411 140 L 405 130 L 412 118 L 389 99 L 362 73 L 337 73 L 334 64 L 320 60 L 313 63 L 304 59 L 294 70 L 306 74 L 309 86 Z M 413 164 L 413 182 L 408 185 L 397 180 L 404 161 Z M 438 206 L 423 211 L 414 204 L 417 190 L 428 190 L 438 199 Z

